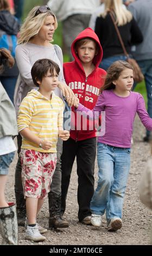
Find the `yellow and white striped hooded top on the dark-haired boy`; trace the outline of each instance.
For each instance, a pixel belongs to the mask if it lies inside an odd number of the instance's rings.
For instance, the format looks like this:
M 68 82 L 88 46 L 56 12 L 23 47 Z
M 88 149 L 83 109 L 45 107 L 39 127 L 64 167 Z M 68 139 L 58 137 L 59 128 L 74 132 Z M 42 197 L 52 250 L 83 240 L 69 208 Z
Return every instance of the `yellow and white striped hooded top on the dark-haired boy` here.
M 44 153 L 56 153 L 58 142 L 58 127 L 62 127 L 64 117 L 64 102 L 52 92 L 52 99 L 48 100 L 37 90 L 31 90 L 24 97 L 17 117 L 18 132 L 26 127 L 41 139 L 52 142 L 49 150 L 44 150 L 33 142 L 22 138 L 22 149 L 34 149 Z

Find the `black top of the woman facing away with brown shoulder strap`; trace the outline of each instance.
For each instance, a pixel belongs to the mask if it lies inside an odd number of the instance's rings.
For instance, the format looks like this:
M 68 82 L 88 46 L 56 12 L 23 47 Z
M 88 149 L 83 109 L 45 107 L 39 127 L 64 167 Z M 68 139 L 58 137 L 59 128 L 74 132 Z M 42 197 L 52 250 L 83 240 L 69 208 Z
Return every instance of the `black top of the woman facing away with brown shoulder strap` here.
M 143 41 L 142 32 L 134 17 L 125 25 L 118 26 L 118 29 L 128 53 L 131 53 L 131 45 L 140 44 Z M 103 58 L 124 54 L 109 14 L 106 15 L 105 19 L 103 17 L 97 17 L 95 32 L 103 47 Z

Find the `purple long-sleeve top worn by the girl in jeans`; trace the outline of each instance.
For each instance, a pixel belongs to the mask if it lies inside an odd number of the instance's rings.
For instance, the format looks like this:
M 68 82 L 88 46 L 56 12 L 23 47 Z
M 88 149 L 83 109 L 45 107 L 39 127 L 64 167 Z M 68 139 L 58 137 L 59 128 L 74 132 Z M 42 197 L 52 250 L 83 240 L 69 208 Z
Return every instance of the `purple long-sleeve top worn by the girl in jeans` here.
M 130 92 L 129 96 L 121 97 L 113 93 L 113 90 L 104 90 L 92 111 L 80 103 L 76 111 L 84 111 L 90 118 L 105 111 L 105 135 L 99 136 L 98 142 L 115 147 L 130 148 L 136 112 L 146 129 L 152 130 L 152 119 L 139 93 Z

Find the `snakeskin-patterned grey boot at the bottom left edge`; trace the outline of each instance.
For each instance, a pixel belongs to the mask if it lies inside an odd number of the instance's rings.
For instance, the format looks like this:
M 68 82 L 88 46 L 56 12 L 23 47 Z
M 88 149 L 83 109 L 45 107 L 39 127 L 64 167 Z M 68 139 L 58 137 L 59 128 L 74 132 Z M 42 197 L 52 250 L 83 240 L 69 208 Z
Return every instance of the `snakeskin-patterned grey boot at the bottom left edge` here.
M 0 233 L 3 238 L 2 245 L 17 245 L 18 226 L 14 203 L 9 203 L 8 207 L 0 208 Z

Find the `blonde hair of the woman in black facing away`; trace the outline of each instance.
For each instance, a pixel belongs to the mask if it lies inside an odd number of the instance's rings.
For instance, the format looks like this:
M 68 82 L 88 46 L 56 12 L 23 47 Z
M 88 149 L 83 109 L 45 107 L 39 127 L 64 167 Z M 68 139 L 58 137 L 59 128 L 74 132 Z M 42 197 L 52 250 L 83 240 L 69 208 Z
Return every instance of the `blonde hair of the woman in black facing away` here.
M 105 0 L 105 10 L 100 16 L 106 17 L 107 13 L 111 10 L 116 15 L 116 22 L 118 26 L 123 26 L 132 20 L 132 14 L 129 10 L 123 7 L 122 0 Z

